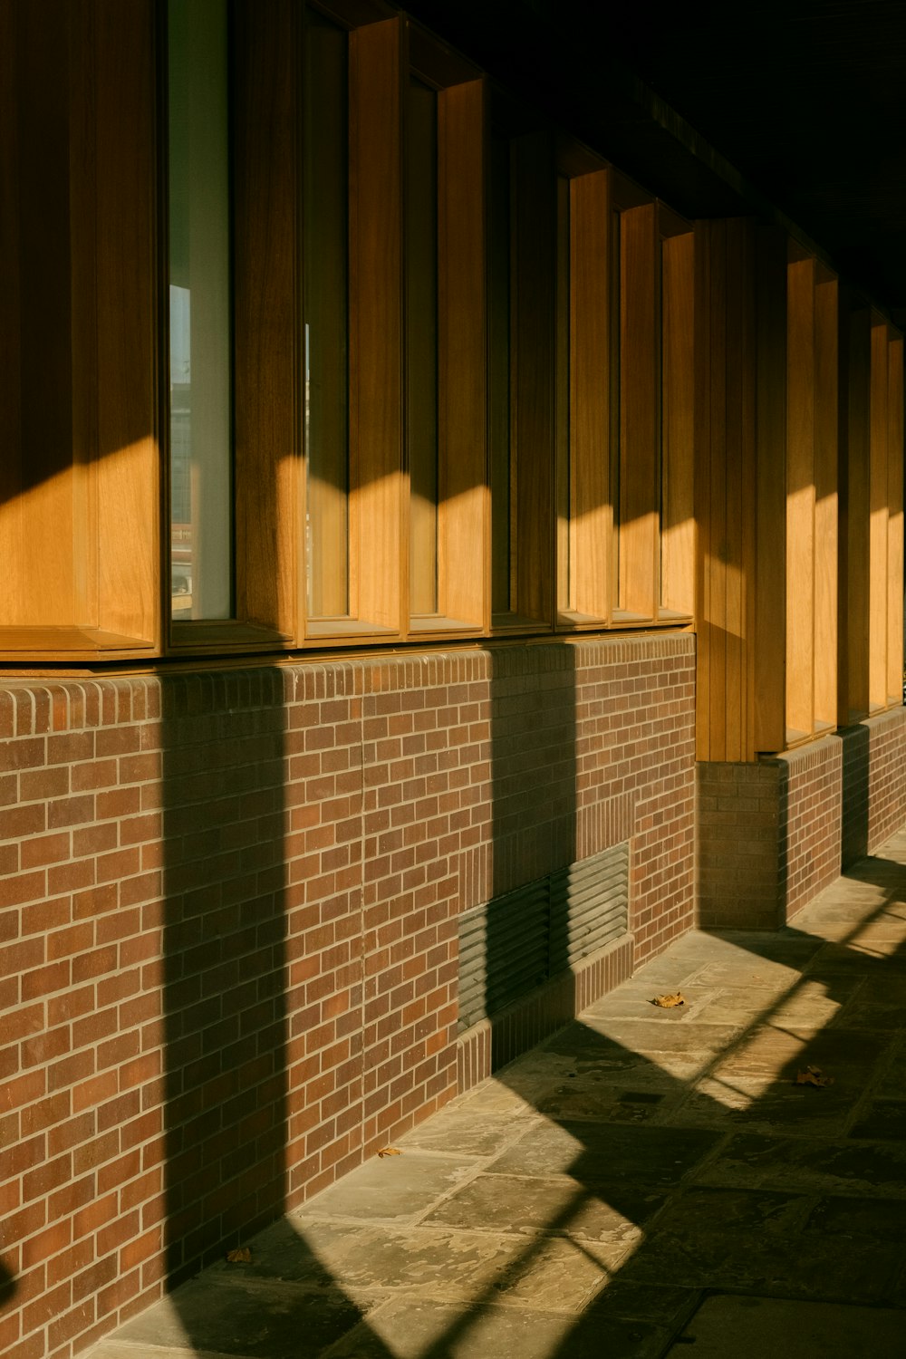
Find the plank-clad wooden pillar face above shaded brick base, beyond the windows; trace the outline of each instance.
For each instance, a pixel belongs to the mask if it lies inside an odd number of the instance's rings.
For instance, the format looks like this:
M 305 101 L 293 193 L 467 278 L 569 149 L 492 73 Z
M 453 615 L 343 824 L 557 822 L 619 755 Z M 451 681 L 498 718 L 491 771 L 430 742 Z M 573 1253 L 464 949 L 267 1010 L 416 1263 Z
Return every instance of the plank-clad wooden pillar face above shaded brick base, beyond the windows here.
M 682 239 L 682 238 L 681 238 Z M 776 247 L 773 283 L 780 289 L 782 326 L 784 275 Z M 697 660 L 697 752 L 700 760 L 750 761 L 757 757 L 757 697 L 765 700 L 766 677 L 761 673 L 762 641 L 757 631 L 759 588 L 759 533 L 762 495 L 773 497 L 772 550 L 782 542 L 784 512 L 784 429 L 773 448 L 778 469 L 759 465 L 762 447 L 757 440 L 759 381 L 758 313 L 758 232 L 753 223 L 736 219 L 698 223 L 695 227 L 695 462 L 694 506 L 697 533 L 695 616 Z M 777 307 L 777 298 L 774 298 Z M 781 329 L 781 360 L 785 336 Z M 770 371 L 770 368 L 769 368 Z M 773 378 L 782 385 L 785 374 L 774 364 Z M 762 401 L 765 394 L 762 393 Z M 777 391 L 773 393 L 774 402 Z M 780 473 L 780 493 L 777 491 Z M 773 481 L 772 481 L 773 473 Z M 762 482 L 772 481 L 766 491 Z M 772 598 L 784 613 L 784 563 L 777 579 L 769 580 Z M 772 625 L 777 628 L 777 617 Z M 780 646 L 782 648 L 782 633 Z M 773 681 L 774 711 L 782 723 L 782 660 Z M 777 749 L 782 746 L 782 730 Z

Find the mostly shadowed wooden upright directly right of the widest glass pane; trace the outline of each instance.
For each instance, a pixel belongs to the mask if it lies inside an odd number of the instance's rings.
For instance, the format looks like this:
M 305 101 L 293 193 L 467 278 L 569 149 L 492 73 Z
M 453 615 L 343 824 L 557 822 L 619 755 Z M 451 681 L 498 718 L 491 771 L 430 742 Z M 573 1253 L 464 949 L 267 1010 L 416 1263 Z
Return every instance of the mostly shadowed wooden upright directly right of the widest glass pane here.
M 234 22 L 236 617 L 300 636 L 299 7 Z

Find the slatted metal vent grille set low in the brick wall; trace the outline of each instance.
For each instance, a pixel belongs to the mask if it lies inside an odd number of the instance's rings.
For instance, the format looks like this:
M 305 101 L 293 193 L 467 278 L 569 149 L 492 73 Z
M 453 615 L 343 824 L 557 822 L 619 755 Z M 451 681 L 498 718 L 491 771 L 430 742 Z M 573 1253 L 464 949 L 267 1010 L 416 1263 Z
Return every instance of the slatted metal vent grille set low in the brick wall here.
M 628 844 L 466 911 L 459 920 L 460 1033 L 625 934 L 628 917 Z

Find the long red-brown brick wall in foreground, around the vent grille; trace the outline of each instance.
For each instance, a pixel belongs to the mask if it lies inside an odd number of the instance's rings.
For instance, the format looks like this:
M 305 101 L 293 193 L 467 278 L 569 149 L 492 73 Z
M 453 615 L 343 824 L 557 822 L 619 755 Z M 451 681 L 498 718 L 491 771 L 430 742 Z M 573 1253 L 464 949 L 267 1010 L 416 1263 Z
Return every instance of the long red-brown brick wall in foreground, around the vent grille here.
M 450 1098 L 460 909 L 629 837 L 637 954 L 685 930 L 691 742 L 687 635 L 1 689 L 0 1352 Z

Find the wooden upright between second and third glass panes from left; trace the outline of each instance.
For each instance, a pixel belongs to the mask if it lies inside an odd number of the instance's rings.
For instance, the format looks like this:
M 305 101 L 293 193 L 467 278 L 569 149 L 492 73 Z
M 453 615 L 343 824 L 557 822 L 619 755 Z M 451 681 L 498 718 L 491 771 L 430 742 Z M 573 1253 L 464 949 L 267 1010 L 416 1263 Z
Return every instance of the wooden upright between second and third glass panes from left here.
M 402 506 L 402 24 L 349 37 L 350 601 L 409 616 Z M 405 554 L 407 559 L 407 554 Z

